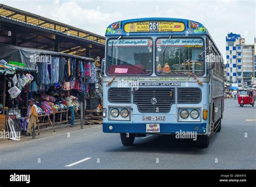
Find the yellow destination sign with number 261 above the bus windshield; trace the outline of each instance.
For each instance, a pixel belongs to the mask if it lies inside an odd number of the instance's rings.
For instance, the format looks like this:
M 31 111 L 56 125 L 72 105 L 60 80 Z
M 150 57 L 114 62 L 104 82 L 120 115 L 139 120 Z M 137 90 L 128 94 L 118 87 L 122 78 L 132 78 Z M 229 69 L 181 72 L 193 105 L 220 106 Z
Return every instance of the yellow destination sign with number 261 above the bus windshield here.
M 124 31 L 133 32 L 183 32 L 185 24 L 175 21 L 140 21 L 127 23 L 124 25 Z

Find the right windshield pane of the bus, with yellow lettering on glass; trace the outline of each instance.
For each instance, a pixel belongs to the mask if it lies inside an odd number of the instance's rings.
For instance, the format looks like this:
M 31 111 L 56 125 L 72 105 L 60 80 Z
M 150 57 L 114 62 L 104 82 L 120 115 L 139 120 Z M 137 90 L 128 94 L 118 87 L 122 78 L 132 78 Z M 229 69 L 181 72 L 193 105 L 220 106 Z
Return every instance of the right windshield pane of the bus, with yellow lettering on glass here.
M 202 39 L 159 38 L 156 43 L 157 75 L 204 74 Z

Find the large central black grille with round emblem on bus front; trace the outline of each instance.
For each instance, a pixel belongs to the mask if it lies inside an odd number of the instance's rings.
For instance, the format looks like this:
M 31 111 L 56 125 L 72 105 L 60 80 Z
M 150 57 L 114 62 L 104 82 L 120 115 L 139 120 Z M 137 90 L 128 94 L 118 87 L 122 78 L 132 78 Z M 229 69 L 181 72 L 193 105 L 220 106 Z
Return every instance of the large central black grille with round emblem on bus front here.
M 169 112 L 175 103 L 174 88 L 139 88 L 133 91 L 133 103 L 137 104 L 139 112 Z

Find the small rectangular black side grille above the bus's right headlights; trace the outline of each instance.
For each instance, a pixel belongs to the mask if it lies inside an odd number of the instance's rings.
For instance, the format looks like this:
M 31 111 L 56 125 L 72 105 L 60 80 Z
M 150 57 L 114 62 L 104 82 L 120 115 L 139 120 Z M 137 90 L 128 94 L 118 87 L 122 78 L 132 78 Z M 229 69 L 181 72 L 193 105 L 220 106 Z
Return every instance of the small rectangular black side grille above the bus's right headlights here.
M 201 102 L 199 88 L 178 88 L 178 103 L 193 104 Z

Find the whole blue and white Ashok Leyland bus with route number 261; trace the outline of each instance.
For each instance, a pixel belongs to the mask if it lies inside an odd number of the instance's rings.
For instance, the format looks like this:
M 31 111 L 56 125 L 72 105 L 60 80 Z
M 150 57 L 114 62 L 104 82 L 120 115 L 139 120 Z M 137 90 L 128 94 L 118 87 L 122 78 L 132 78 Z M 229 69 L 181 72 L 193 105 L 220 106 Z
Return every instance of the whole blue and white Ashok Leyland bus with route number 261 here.
M 221 128 L 223 57 L 197 21 L 140 18 L 106 28 L 103 132 L 124 146 L 146 134 L 195 133 L 200 147 Z

